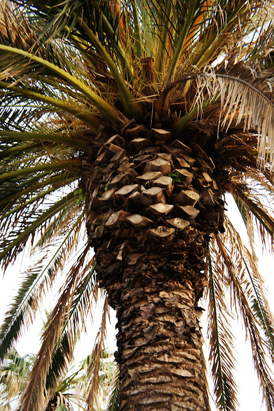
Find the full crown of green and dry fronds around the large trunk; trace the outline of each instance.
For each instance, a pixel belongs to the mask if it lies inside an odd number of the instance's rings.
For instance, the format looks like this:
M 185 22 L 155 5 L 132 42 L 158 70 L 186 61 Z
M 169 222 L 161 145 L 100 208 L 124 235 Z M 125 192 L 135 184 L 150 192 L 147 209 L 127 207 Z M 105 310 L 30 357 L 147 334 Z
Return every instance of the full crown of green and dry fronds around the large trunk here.
M 98 165 L 107 170 L 109 153 L 123 154 L 121 134 L 139 147 L 145 144 L 144 130 L 152 130 L 157 144 L 169 138 L 164 129 L 175 146 L 202 150 L 207 164 L 214 156 L 223 191 L 234 196 L 251 243 L 257 226 L 263 245 L 274 250 L 274 216 L 267 206 L 274 186 L 273 1 L 17 0 L 0 5 L 0 259 L 6 268 L 26 246 L 54 250 L 24 275 L 0 329 L 1 360 L 79 239 L 87 241 L 87 165 L 97 153 Z M 104 144 L 107 153 L 101 150 Z M 173 183 L 180 178 L 178 172 L 171 177 Z M 200 184 L 208 178 L 205 167 Z M 105 222 L 98 223 L 95 235 L 102 234 Z M 273 317 L 256 256 L 225 216 L 219 231 L 207 259 L 216 403 L 220 410 L 237 409 L 228 288 L 231 306 L 247 328 L 267 408 L 274 410 L 267 361 L 274 352 Z M 92 309 L 90 296 L 98 299 L 96 264 L 84 243 L 45 326 L 28 387 L 41 386 L 48 397 L 72 358 L 74 336 Z M 107 316 L 105 297 L 89 372 L 90 409 Z M 26 394 L 23 410 L 32 394 Z

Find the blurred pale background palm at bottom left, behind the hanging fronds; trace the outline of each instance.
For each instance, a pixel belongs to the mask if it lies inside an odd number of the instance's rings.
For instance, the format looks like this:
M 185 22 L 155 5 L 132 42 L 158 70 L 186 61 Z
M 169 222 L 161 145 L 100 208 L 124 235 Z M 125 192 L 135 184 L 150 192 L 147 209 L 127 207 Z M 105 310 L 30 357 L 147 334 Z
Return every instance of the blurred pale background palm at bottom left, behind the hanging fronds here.
M 103 350 L 100 359 L 100 385 L 96 393 L 97 403 L 109 403 L 115 410 L 119 398 L 117 365 L 112 361 L 113 354 Z M 19 410 L 20 398 L 27 383 L 28 374 L 35 356 L 20 357 L 17 351 L 11 351 L 0 368 L 0 410 Z M 56 386 L 56 392 L 49 399 L 45 411 L 85 410 L 88 395 L 88 370 L 92 367 L 92 355 L 74 365 Z M 112 394 L 112 395 L 111 395 Z M 101 407 L 96 408 L 102 411 Z

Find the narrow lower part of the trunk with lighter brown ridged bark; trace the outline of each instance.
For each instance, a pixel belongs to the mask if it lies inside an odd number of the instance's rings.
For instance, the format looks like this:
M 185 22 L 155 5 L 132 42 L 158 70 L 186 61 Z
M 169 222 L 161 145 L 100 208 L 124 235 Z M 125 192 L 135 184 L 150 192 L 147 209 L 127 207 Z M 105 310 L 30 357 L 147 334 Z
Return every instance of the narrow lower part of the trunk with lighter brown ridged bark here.
M 163 273 L 155 285 L 151 277 L 145 278 L 147 285 L 139 278 L 137 289 L 142 283 L 143 290 L 127 298 L 136 289 L 129 290 L 118 309 L 121 410 L 205 410 L 202 340 L 192 285 L 166 280 Z

